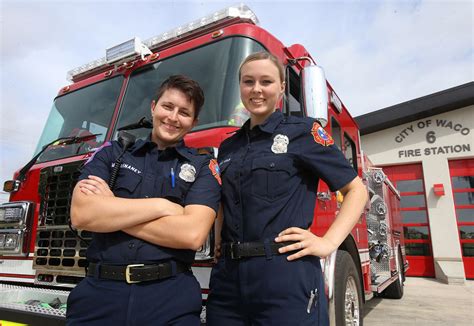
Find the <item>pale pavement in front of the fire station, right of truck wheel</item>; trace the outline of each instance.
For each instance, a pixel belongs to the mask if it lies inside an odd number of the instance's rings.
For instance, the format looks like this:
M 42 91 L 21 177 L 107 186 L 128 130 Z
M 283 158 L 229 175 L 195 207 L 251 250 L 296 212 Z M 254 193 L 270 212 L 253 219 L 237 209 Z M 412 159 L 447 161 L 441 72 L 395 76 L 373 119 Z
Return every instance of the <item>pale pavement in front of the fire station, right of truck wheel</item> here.
M 474 281 L 448 285 L 407 277 L 400 300 L 375 297 L 364 306 L 365 326 L 474 326 Z

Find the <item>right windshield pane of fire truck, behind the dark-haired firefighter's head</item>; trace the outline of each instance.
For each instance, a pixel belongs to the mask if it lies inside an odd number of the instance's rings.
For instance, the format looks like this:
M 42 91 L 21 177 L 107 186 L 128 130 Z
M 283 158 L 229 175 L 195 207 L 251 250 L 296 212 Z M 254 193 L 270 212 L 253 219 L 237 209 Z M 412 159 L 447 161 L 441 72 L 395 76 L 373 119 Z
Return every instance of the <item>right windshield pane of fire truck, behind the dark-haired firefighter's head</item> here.
M 157 61 L 135 71 L 128 83 L 117 128 L 150 118 L 150 104 L 161 83 L 170 75 L 183 74 L 202 87 L 205 103 L 194 131 L 214 127 L 240 127 L 248 118 L 240 102 L 238 70 L 242 60 L 263 47 L 245 37 L 230 37 Z M 150 130 L 131 131 L 138 138 Z

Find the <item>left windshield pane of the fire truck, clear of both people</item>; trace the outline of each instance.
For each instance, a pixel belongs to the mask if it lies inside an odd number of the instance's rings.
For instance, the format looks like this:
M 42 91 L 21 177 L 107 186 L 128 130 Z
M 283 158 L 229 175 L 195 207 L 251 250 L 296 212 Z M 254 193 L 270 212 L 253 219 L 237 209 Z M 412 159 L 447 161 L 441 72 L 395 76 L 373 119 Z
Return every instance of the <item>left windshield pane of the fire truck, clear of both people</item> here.
M 84 142 L 49 146 L 38 162 L 84 154 L 100 146 L 110 126 L 122 83 L 123 76 L 117 76 L 57 97 L 35 155 L 57 138 L 100 135 Z

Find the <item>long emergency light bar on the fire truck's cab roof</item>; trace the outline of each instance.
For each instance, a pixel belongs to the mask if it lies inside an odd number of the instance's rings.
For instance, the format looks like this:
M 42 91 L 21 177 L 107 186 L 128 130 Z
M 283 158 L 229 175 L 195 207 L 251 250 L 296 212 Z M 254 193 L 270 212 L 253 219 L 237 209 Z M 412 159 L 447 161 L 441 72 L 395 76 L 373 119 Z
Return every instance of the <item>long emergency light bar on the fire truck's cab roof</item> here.
M 124 60 L 126 58 L 131 59 L 136 55 L 141 55 L 142 58 L 144 58 L 145 55 L 151 54 L 150 50 L 157 49 L 192 32 L 196 32 L 217 23 L 222 23 L 235 18 L 240 18 L 242 21 L 253 23 L 255 25 L 258 25 L 259 23 L 257 16 L 248 6 L 240 4 L 238 6 L 228 7 L 216 11 L 211 15 L 181 25 L 163 34 L 151 37 L 145 40 L 143 43 L 140 42 L 138 38 L 133 38 L 127 42 L 111 47 L 107 49 L 106 57 L 91 61 L 68 71 L 66 78 L 72 82 L 73 79 L 79 75 L 83 75 L 106 66 L 111 66 L 112 63 L 118 62 L 120 60 Z

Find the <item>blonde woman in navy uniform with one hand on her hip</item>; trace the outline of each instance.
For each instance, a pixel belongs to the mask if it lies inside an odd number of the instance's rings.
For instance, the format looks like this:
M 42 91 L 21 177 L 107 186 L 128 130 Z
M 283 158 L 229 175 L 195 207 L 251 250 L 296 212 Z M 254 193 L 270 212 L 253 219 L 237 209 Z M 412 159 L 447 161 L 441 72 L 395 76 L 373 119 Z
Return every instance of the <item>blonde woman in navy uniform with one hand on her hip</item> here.
M 366 189 L 315 120 L 278 109 L 285 76 L 275 56 L 250 55 L 239 79 L 250 119 L 219 148 L 221 255 L 211 274 L 207 322 L 327 325 L 319 257 L 350 233 Z M 319 179 L 345 196 L 323 237 L 308 231 Z

